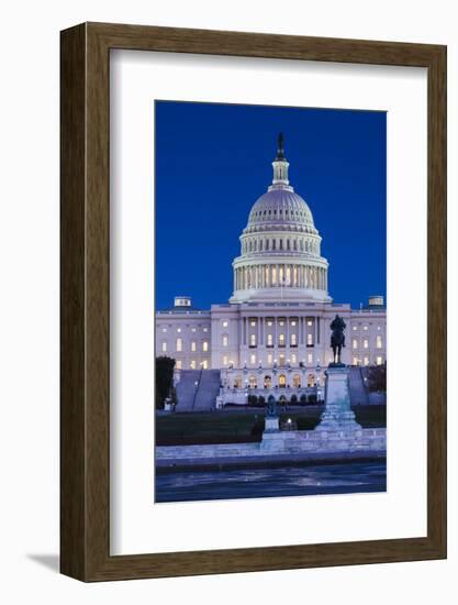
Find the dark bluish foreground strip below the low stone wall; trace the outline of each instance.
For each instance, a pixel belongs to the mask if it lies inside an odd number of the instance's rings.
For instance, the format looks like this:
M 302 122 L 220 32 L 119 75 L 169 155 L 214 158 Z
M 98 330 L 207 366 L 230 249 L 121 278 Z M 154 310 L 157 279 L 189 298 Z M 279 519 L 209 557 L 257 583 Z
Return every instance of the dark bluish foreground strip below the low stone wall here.
M 155 502 L 192 502 L 387 491 L 386 461 L 156 474 Z

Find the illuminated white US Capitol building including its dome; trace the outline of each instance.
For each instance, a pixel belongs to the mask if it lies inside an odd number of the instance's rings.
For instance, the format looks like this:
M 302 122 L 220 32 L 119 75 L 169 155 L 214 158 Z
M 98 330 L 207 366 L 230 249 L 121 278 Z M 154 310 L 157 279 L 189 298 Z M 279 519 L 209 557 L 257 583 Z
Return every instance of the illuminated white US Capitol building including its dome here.
M 361 366 L 386 362 L 383 297 L 371 296 L 358 310 L 333 302 L 322 238 L 309 206 L 290 185 L 281 134 L 272 166 L 272 184 L 239 237 L 228 302 L 199 310 L 189 296 L 177 296 L 171 309 L 156 312 L 156 355 L 176 360 L 176 383 L 182 383 L 188 406 L 192 399 L 199 407 L 202 382 L 206 397 L 219 405 L 246 403 L 248 394 L 321 398 L 336 314 L 346 322 L 342 361 L 357 369 L 354 378 L 364 375 Z

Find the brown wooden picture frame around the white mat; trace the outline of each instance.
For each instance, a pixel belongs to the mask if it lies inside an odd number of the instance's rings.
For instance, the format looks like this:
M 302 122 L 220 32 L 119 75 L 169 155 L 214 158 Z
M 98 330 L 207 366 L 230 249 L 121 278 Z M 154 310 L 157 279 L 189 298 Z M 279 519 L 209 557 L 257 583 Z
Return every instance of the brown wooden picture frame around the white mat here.
M 427 68 L 427 536 L 110 556 L 109 62 L 129 48 Z M 82 581 L 446 557 L 446 47 L 122 24 L 62 32 L 62 573 Z

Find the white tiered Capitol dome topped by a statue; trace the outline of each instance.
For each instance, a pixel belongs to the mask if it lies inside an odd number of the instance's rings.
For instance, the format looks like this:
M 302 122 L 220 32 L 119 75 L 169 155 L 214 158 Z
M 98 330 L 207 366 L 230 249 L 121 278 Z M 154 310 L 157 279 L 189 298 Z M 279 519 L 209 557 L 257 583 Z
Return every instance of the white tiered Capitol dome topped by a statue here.
M 322 239 L 309 206 L 288 180 L 281 134 L 272 167 L 272 184 L 253 206 L 239 238 L 231 302 L 278 298 L 328 302 Z

